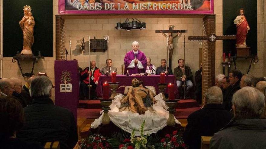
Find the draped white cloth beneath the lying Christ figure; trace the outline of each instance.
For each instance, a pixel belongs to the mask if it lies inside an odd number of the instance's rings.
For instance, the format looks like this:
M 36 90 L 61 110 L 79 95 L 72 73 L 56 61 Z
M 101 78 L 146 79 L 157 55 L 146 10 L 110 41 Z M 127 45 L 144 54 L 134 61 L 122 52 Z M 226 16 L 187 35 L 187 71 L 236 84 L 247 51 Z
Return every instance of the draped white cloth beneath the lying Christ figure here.
M 116 126 L 122 130 L 131 133 L 135 129 L 135 135 L 140 136 L 140 126 L 141 123 L 145 120 L 144 126 L 144 135 L 156 133 L 158 130 L 163 129 L 167 126 L 166 122 L 169 117 L 169 112 L 167 111 L 168 107 L 165 104 L 162 94 L 158 94 L 154 98 L 157 101 L 157 104 L 153 105 L 154 112 L 147 110 L 145 114 L 132 113 L 131 111 L 122 111 L 119 112 L 120 100 L 124 95 L 120 94 L 115 96 L 112 104 L 109 106 L 109 118 Z M 99 119 L 91 124 L 91 128 L 95 129 L 102 123 L 103 111 Z M 176 118 L 174 118 L 176 123 L 181 124 Z

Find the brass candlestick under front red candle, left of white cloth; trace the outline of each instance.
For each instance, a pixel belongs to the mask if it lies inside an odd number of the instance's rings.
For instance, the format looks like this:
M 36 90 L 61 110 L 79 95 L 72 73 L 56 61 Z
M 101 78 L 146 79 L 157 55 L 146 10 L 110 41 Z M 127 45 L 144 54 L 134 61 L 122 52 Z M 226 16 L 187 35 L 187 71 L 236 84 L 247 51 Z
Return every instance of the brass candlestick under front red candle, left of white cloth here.
M 101 102 L 102 110 L 103 110 L 102 125 L 107 125 L 110 123 L 108 111 L 111 110 L 109 106 L 112 104 L 112 99 L 101 98 L 100 102 Z

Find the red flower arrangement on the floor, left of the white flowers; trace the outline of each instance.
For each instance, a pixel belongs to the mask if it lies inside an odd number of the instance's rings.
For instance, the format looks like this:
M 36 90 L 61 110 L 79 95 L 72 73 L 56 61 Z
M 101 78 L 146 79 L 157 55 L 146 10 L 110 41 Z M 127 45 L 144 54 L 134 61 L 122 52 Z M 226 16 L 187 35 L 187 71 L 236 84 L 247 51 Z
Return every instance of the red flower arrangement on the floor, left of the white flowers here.
M 79 149 L 111 149 L 106 138 L 99 134 L 89 135 L 88 138 L 78 142 Z

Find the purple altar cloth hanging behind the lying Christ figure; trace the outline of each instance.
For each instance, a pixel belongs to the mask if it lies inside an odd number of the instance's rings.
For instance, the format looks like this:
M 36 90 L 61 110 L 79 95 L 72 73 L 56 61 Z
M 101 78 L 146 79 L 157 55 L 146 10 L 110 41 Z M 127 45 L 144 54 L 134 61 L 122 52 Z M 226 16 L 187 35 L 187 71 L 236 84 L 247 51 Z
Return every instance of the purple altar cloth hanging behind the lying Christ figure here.
M 133 78 L 141 79 L 145 86 L 154 86 L 156 89 L 156 94 L 159 94 L 157 83 L 160 82 L 160 75 L 151 75 L 151 76 L 116 75 L 116 82 L 119 82 L 118 86 L 129 86 L 129 85 L 131 85 L 131 80 Z M 102 97 L 102 84 L 105 81 L 111 82 L 111 76 L 105 76 L 105 75 L 100 76 L 98 85 L 96 87 L 96 93 L 97 93 L 98 97 Z M 165 76 L 165 83 L 171 83 L 171 84 L 174 83 L 174 85 L 175 85 L 175 97 L 177 97 L 178 91 L 177 91 L 177 83 L 176 83 L 175 76 L 173 76 L 173 75 Z M 125 89 L 125 87 L 121 87 L 116 92 L 124 94 L 124 89 Z M 165 93 L 168 93 L 167 87 L 166 87 Z

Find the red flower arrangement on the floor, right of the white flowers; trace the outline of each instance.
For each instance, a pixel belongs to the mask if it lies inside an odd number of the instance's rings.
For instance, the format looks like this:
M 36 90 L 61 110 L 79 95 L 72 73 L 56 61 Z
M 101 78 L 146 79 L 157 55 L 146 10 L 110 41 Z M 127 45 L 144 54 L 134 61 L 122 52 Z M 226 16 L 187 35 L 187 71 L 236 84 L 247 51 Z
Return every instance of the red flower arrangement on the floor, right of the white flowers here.
M 187 149 L 188 146 L 184 143 L 183 138 L 179 135 L 180 132 L 177 130 L 173 131 L 172 134 L 166 134 L 161 139 L 160 147 L 162 149 Z

